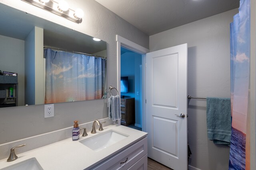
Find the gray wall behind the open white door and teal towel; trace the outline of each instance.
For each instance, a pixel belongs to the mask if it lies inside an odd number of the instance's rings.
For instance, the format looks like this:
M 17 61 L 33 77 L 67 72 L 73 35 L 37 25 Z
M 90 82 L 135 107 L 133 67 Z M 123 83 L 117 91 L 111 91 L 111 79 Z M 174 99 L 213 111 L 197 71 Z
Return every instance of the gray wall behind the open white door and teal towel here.
M 188 43 L 188 95 L 230 98 L 230 22 L 238 10 L 198 20 L 150 36 L 150 51 Z M 229 147 L 207 138 L 206 100 L 188 101 L 189 165 L 228 169 Z

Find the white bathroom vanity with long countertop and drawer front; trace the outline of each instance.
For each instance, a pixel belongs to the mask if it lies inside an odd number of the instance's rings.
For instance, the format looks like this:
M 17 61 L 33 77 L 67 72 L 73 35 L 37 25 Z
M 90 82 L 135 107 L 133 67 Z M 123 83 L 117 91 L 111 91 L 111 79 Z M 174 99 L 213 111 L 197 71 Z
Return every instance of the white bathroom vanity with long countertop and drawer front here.
M 19 168 L 24 163 L 43 170 L 147 169 L 147 133 L 115 124 L 103 128 L 95 134 L 88 132 L 86 137 L 80 135 L 78 141 L 69 138 L 17 153 L 18 159 L 12 162 L 4 158 L 0 170 Z

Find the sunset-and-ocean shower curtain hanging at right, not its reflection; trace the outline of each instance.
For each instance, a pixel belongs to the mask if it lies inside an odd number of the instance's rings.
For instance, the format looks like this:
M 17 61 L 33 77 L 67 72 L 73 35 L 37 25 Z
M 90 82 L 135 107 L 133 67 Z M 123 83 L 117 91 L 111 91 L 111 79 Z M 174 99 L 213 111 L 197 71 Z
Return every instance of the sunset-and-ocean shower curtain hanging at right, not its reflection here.
M 240 0 L 230 24 L 232 134 L 229 170 L 250 170 L 250 129 L 246 129 L 250 76 L 250 0 Z

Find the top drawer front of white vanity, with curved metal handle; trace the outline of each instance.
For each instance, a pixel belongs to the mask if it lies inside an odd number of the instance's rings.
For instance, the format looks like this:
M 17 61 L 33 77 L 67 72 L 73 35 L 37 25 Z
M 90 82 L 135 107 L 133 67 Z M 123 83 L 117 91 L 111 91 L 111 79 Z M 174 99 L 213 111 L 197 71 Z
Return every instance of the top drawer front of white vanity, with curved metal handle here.
M 128 169 L 138 162 L 148 152 L 147 137 L 134 145 L 122 150 L 120 153 L 109 158 L 93 170 L 119 170 Z

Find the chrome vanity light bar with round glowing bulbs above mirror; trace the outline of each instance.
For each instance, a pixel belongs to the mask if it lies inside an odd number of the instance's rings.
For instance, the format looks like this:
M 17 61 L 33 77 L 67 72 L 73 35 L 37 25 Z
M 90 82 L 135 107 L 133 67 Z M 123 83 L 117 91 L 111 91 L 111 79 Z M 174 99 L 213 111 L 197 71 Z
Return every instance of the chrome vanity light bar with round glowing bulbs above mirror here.
M 76 11 L 68 7 L 68 3 L 64 0 L 55 2 L 54 0 L 22 0 L 28 4 L 34 5 L 43 10 L 52 12 L 58 16 L 66 18 L 67 20 L 73 21 L 75 23 L 81 23 L 84 12 L 81 9 Z

